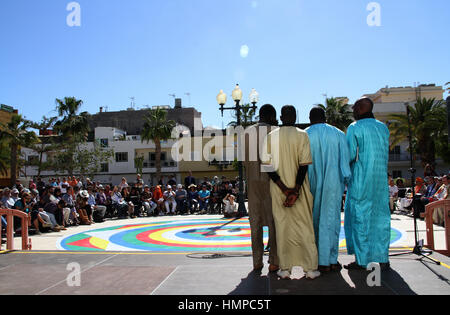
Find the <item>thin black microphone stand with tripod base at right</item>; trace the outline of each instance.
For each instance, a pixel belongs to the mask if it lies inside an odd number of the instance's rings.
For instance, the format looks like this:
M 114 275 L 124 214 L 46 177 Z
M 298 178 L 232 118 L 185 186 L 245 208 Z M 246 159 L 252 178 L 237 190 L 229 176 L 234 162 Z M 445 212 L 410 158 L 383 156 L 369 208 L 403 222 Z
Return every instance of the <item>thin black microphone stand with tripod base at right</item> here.
M 411 190 L 412 190 L 412 197 L 413 197 L 413 201 L 411 203 L 412 205 L 412 210 L 413 210 L 413 216 L 414 216 L 414 248 L 412 250 L 412 252 L 406 252 L 406 253 L 397 253 L 397 254 L 391 254 L 389 255 L 390 257 L 395 257 L 395 256 L 401 256 L 401 255 L 409 255 L 409 254 L 415 254 L 417 256 L 420 256 L 419 259 L 422 258 L 426 258 L 429 259 L 430 261 L 434 262 L 437 265 L 440 265 L 441 263 L 439 261 L 436 261 L 434 259 L 431 259 L 430 257 L 428 257 L 429 255 L 431 255 L 433 252 L 429 249 L 425 250 L 423 248 L 423 244 L 424 241 L 419 240 L 419 231 L 418 231 L 418 226 L 417 226 L 417 219 L 420 216 L 419 213 L 419 209 L 417 209 L 416 207 L 416 202 L 418 202 L 416 200 L 416 169 L 414 168 L 414 161 L 413 161 L 413 148 L 412 148 L 412 131 L 411 131 L 411 112 L 409 109 L 409 104 L 405 103 L 406 105 L 406 113 L 408 116 L 408 132 L 409 132 L 409 151 L 410 151 L 410 157 L 409 157 L 409 161 L 410 161 L 410 166 L 411 168 L 409 169 L 409 172 L 411 173 Z

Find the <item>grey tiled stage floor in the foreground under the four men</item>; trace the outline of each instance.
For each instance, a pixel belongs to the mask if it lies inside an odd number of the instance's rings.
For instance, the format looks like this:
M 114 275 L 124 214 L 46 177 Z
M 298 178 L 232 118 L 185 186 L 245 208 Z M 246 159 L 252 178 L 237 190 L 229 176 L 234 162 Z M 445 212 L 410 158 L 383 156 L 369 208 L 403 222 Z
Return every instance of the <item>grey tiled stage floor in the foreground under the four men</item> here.
M 402 249 L 403 251 L 404 249 Z M 398 252 L 393 250 L 393 253 Z M 2 295 L 448 295 L 450 259 L 434 253 L 436 265 L 416 255 L 391 259 L 381 286 L 367 284 L 367 271 L 323 274 L 311 281 L 301 269 L 279 280 L 267 266 L 252 272 L 249 253 L 9 252 L 0 255 Z M 204 258 L 202 258 L 204 256 Z M 192 258 L 195 257 L 195 258 Z M 340 256 L 347 264 L 352 257 Z M 79 270 L 76 269 L 77 266 Z M 78 273 L 78 271 L 80 271 Z

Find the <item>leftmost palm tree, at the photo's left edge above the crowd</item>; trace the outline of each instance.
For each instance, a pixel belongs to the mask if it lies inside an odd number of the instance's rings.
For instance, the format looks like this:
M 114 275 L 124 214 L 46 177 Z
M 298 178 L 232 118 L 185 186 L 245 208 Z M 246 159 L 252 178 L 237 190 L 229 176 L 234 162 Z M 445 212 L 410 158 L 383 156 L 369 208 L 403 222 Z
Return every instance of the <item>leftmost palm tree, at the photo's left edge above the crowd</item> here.
M 10 174 L 11 186 L 16 183 L 18 160 L 20 156 L 20 147 L 29 147 L 38 141 L 34 131 L 29 129 L 32 122 L 22 118 L 21 115 L 14 114 L 11 121 L 7 124 L 0 124 L 0 140 L 9 144 L 10 148 Z

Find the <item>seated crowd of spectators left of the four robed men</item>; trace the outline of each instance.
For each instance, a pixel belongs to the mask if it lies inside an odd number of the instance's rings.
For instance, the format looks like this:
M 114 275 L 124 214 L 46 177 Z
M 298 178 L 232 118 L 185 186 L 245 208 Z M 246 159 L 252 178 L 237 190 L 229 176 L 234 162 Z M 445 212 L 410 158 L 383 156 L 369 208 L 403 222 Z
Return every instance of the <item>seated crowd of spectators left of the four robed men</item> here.
M 24 187 L 18 180 L 0 192 L 0 208 L 17 209 L 31 216 L 31 234 L 59 232 L 68 227 L 92 225 L 111 219 L 134 219 L 189 214 L 237 214 L 238 180 L 222 176 L 197 180 L 190 172 L 184 183 L 172 176 L 167 183 L 145 185 L 141 175 L 132 183 L 122 178 L 117 185 L 82 177 L 37 178 Z M 2 228 L 7 222 L 1 217 Z M 20 233 L 20 221 L 14 222 Z

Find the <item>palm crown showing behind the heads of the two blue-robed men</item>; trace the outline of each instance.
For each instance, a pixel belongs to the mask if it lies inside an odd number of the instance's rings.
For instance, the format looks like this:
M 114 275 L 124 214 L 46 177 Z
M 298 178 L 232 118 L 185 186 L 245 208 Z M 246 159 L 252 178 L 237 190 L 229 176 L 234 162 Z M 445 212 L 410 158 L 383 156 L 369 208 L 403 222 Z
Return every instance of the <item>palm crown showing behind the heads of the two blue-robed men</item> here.
M 338 98 L 327 98 L 326 106 L 323 104 L 318 106 L 325 110 L 327 123 L 344 132 L 353 123 L 353 113 L 350 110 L 350 105 Z

